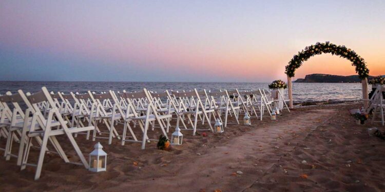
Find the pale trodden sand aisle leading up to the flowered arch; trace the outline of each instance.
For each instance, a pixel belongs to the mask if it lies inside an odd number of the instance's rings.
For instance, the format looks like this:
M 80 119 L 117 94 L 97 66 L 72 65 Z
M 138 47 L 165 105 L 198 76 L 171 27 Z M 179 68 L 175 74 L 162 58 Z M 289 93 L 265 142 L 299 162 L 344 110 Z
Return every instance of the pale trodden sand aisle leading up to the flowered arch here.
M 301 181 L 300 173 L 290 176 L 291 168 L 280 167 L 282 159 L 287 158 L 306 136 L 336 113 L 335 110 L 314 110 L 291 115 L 285 122 L 271 122 L 267 126 L 228 138 L 225 142 L 211 143 L 215 147 L 205 150 L 202 146 L 197 153 L 182 152 L 168 161 L 167 166 L 149 165 L 143 167 L 149 177 L 139 176 L 138 180 L 120 183 L 109 189 L 130 189 L 131 191 L 156 191 L 175 188 L 177 191 L 254 191 L 255 187 L 268 187 L 280 179 L 282 181 Z M 229 126 L 231 127 L 231 126 Z M 230 128 L 226 130 L 230 132 Z M 207 143 L 210 145 L 210 143 Z M 313 144 L 314 145 L 314 144 Z M 162 160 L 166 160 L 163 157 Z M 161 161 L 162 161 L 161 160 Z M 296 163 L 304 168 L 312 165 Z M 178 163 L 173 163 L 178 162 Z M 277 168 L 279 167 L 279 168 Z M 165 169 L 166 174 L 149 174 L 148 169 Z M 237 171 L 240 171 L 237 173 Z M 269 173 L 282 172 L 279 178 L 268 177 Z M 159 171 L 158 171 L 159 172 Z M 296 171 L 298 172 L 298 171 Z M 167 174 L 168 173 L 168 174 Z M 276 174 L 275 174 L 276 175 Z M 152 178 L 151 178 L 152 177 Z M 306 182 L 306 181 L 304 181 Z M 263 186 L 260 186 L 263 184 Z

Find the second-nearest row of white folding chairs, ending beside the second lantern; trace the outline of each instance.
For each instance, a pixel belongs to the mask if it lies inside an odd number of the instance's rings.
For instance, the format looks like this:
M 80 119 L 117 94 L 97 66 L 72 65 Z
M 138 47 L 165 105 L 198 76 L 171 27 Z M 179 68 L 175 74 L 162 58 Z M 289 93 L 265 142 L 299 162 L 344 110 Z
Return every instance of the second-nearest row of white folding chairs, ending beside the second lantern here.
M 144 90 L 142 92 L 133 93 L 133 95 L 138 95 L 138 97 L 126 96 L 128 93 L 115 94 L 113 91 L 102 92 L 101 94 L 91 93 L 88 91 L 86 94 L 76 94 L 71 93 L 72 99 L 75 100 L 75 104 L 72 107 L 72 122 L 71 125 L 76 127 L 84 126 L 82 122 L 85 120 L 88 121 L 88 125 L 93 125 L 95 127 L 92 130 L 92 140 L 95 139 L 108 139 L 108 143 L 112 143 L 112 138 L 121 139 L 122 145 L 125 141 L 134 141 L 142 142 L 142 148 L 145 147 L 145 143 L 149 139 L 146 135 L 148 126 L 146 123 L 155 123 L 155 121 L 161 122 L 162 125 L 165 125 L 163 119 L 164 116 L 156 114 L 153 112 L 151 107 L 152 103 L 147 102 L 150 97 Z M 117 96 L 119 95 L 119 97 Z M 63 96 L 63 95 L 62 95 Z M 64 98 L 64 96 L 63 96 Z M 120 99 L 119 99 L 120 98 Z M 65 98 L 62 100 L 66 100 Z M 66 101 L 67 103 L 69 101 Z M 62 106 L 67 104 L 61 104 Z M 150 108 L 148 108 L 150 106 Z M 148 112 L 148 110 L 151 110 Z M 147 113 L 146 113 L 147 111 Z M 70 115 L 71 113 L 67 113 Z M 156 117 L 156 118 L 154 118 Z M 129 122 L 134 121 L 134 125 L 139 124 L 142 129 L 143 139 L 138 140 L 137 136 L 133 133 Z M 103 132 L 105 127 L 99 127 L 98 122 L 103 122 L 107 128 L 107 132 Z M 118 131 L 115 127 L 116 124 L 124 124 L 123 133 L 118 134 Z M 126 139 L 127 128 L 131 133 L 131 140 Z M 168 128 L 166 128 L 168 130 Z M 167 134 L 163 131 L 163 134 L 167 137 Z M 108 137 L 100 136 L 102 134 L 107 134 Z M 87 139 L 90 137 L 90 131 L 87 132 Z

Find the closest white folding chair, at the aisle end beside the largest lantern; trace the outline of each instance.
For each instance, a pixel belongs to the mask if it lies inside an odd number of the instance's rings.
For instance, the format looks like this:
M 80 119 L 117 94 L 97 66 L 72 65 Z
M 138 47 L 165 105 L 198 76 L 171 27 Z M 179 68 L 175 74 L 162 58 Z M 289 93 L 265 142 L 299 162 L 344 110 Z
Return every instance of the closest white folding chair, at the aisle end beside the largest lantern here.
M 29 106 L 25 114 L 26 116 L 29 116 L 30 113 L 32 112 L 32 121 L 30 123 L 30 127 L 28 127 L 29 123 L 27 118 L 25 118 L 27 120 L 24 121 L 25 123 L 23 125 L 21 141 L 24 141 L 24 139 L 27 138 L 27 143 L 23 154 L 21 169 L 22 170 L 25 169 L 26 165 L 36 166 L 35 180 L 40 178 L 44 156 L 45 156 L 45 153 L 47 152 L 48 141 L 51 141 L 53 147 L 55 148 L 56 152 L 61 156 L 61 158 L 65 162 L 70 163 L 59 141 L 56 139 L 56 136 L 59 136 L 59 135 L 66 135 L 72 147 L 74 148 L 76 154 L 79 156 L 82 162 L 82 163 L 74 163 L 74 164 L 80 164 L 80 165 L 83 165 L 85 168 L 88 168 L 89 165 L 86 159 L 84 158 L 78 144 L 73 138 L 72 134 L 76 132 L 93 130 L 94 127 L 93 126 L 82 127 L 82 128 L 67 127 L 67 123 L 62 118 L 62 115 L 60 114 L 59 109 L 56 108 L 53 99 L 51 98 L 48 90 L 45 87 L 42 88 L 41 92 L 29 95 L 26 98 L 24 98 L 23 95 L 21 96 L 26 103 L 27 102 L 29 103 L 28 105 L 32 105 L 32 106 Z M 45 118 L 43 114 L 40 111 L 38 111 L 39 108 L 37 106 L 37 103 L 44 102 L 44 101 L 47 101 L 48 104 L 51 106 L 51 109 L 48 111 L 47 118 Z M 34 137 L 41 137 L 42 144 L 41 144 L 40 154 L 38 156 L 37 164 L 30 164 L 28 163 L 28 158 L 30 155 L 29 152 L 32 145 L 32 138 Z

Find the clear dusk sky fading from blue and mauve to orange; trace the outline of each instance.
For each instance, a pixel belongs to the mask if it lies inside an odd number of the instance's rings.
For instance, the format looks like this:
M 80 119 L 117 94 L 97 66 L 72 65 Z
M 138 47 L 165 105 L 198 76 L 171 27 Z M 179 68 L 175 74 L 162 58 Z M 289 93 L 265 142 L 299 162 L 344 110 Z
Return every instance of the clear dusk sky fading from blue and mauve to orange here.
M 269 82 L 306 46 L 385 74 L 385 1 L 0 1 L 0 80 Z M 331 54 L 296 78 L 354 75 Z

